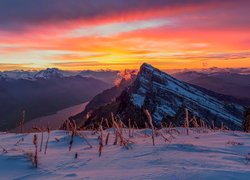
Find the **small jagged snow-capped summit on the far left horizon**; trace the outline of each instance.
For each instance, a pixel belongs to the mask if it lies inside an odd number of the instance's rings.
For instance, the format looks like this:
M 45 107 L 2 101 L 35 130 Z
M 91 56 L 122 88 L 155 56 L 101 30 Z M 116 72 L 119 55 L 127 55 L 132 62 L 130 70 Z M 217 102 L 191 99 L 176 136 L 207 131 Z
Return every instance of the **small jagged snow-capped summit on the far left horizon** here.
M 39 71 L 34 76 L 34 78 L 36 79 L 54 79 L 62 77 L 63 77 L 63 72 L 57 68 L 48 68 L 46 70 Z

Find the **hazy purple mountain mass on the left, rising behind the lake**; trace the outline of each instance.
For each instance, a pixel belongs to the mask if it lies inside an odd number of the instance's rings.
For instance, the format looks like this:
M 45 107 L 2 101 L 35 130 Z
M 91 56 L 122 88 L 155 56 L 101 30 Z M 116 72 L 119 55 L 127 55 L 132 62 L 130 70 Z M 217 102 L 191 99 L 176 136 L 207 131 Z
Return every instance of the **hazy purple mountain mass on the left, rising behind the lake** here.
M 0 75 L 0 130 L 16 127 L 23 110 L 27 122 L 87 102 L 111 87 L 91 77 L 65 76 L 58 69 L 16 73 L 19 78 L 13 72 L 12 76 Z

